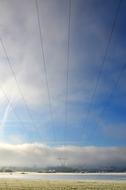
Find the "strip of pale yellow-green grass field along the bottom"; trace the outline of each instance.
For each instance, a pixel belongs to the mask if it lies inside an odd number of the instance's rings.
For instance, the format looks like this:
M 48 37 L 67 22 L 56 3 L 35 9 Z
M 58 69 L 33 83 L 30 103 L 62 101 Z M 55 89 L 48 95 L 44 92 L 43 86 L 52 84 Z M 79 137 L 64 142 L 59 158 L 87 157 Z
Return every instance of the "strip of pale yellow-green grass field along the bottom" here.
M 0 190 L 126 190 L 126 182 L 0 180 Z

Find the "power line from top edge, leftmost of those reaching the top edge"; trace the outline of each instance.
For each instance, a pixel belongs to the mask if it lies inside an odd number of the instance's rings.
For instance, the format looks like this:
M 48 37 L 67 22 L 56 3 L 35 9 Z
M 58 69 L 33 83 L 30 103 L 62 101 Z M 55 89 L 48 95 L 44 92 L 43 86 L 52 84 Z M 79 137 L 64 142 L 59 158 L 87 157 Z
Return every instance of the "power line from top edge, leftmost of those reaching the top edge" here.
M 50 119 L 51 119 L 52 126 L 53 126 L 53 115 L 54 114 L 53 114 L 53 109 L 52 109 L 51 95 L 50 95 L 48 75 L 47 75 L 47 63 L 46 63 L 46 59 L 45 59 L 45 52 L 44 52 L 44 46 L 43 46 L 44 42 L 43 42 L 42 26 L 40 24 L 39 1 L 35 0 L 35 4 L 36 4 L 37 21 L 38 21 L 38 29 L 39 29 L 39 37 L 40 37 L 41 59 L 43 61 L 43 66 L 44 66 L 45 83 L 46 83 L 46 89 L 47 89 L 47 95 L 48 95 L 48 101 L 49 101 Z M 41 67 L 41 73 L 43 74 L 42 67 Z M 56 140 L 54 127 L 53 127 L 53 135 L 54 135 L 54 140 Z

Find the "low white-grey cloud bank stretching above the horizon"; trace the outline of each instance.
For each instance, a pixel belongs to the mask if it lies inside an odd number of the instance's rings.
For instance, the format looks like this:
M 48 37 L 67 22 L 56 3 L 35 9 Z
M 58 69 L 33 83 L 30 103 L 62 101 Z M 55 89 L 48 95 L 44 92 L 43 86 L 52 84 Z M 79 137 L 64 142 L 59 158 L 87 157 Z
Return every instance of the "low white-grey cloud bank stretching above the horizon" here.
M 72 167 L 124 167 L 126 148 L 0 144 L 0 166 L 61 166 L 61 158 Z

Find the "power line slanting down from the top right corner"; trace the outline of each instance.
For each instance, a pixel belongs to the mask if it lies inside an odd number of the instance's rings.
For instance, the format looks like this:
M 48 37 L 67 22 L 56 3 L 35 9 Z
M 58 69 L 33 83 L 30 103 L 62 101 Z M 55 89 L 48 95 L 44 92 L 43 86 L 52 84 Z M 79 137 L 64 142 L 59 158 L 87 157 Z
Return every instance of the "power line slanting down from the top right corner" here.
M 99 82 L 100 82 L 100 78 L 101 78 L 102 73 L 103 73 L 103 68 L 104 68 L 106 58 L 107 58 L 107 55 L 108 55 L 108 51 L 109 51 L 109 47 L 110 47 L 110 44 L 111 44 L 112 35 L 113 35 L 114 29 L 115 29 L 115 26 L 116 26 L 117 18 L 118 18 L 118 15 L 119 15 L 119 10 L 120 10 L 120 7 L 121 7 L 121 3 L 122 3 L 122 0 L 119 0 L 118 6 L 116 8 L 115 17 L 114 17 L 114 20 L 113 20 L 113 23 L 112 23 L 112 28 L 111 28 L 111 31 L 110 31 L 110 35 L 109 35 L 109 38 L 108 38 L 107 46 L 105 48 L 105 54 L 104 54 L 104 57 L 103 57 L 103 60 L 102 60 L 102 63 L 101 63 L 101 69 L 100 69 L 100 71 L 98 73 L 95 88 L 93 90 L 91 100 L 90 100 L 90 103 L 89 103 L 89 108 L 88 108 L 88 111 L 87 111 L 87 114 L 86 114 L 84 127 L 86 127 L 86 125 L 87 125 L 87 122 L 88 122 L 88 119 L 89 119 L 89 116 L 90 116 L 90 113 L 91 113 L 91 108 L 93 106 L 94 97 L 96 95 L 96 92 L 97 92 L 97 89 L 98 89 L 98 86 L 99 86 Z

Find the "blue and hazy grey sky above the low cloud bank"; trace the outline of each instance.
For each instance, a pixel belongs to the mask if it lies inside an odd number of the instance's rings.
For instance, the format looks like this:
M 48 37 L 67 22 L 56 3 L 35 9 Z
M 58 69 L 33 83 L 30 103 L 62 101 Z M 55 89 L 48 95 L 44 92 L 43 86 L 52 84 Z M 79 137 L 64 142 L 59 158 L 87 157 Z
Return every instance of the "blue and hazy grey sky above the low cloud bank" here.
M 126 152 L 126 1 L 69 6 L 38 0 L 37 12 L 35 0 L 0 0 L 0 154 L 34 146 L 41 155 L 48 145 L 51 157 L 65 146 L 83 163 L 85 149 L 117 163 Z

